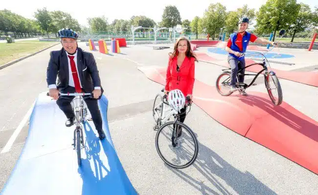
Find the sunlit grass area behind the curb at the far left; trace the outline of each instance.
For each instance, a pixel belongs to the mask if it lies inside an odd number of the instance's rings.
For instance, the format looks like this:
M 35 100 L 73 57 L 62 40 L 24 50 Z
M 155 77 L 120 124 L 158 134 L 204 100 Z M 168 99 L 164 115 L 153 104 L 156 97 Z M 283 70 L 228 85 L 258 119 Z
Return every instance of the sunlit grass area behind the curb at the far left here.
M 0 43 L 0 65 L 44 49 L 56 42 Z

